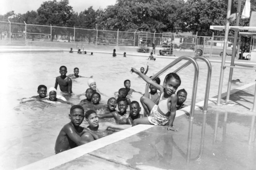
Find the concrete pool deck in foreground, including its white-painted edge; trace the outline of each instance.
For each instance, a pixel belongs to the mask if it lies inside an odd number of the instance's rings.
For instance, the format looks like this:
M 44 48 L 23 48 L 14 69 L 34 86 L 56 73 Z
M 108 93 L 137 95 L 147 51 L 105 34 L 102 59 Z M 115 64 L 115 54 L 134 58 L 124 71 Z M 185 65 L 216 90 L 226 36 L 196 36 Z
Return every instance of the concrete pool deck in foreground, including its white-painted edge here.
M 233 89 L 230 102 L 178 110 L 174 126 L 138 125 L 19 169 L 255 169 L 255 82 Z M 223 93 L 225 99 L 225 93 Z

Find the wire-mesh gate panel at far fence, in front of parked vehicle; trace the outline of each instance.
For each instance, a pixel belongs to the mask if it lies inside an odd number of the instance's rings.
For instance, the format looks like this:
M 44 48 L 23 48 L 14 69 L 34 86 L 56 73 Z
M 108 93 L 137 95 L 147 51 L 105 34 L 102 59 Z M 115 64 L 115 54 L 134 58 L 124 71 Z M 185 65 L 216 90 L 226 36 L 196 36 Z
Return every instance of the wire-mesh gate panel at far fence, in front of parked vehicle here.
M 196 55 L 211 57 L 213 37 L 197 36 L 196 38 Z

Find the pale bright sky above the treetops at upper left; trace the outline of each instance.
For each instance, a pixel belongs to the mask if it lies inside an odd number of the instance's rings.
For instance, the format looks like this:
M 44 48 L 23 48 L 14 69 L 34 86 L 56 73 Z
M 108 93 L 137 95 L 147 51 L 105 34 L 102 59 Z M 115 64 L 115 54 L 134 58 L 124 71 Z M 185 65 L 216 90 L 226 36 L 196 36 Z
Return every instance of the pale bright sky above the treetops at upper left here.
M 12 10 L 15 14 L 24 14 L 31 10 L 36 11 L 45 1 L 49 0 L 0 0 L 0 15 Z M 99 8 L 105 9 L 107 6 L 114 5 L 115 3 L 116 0 L 69 0 L 69 5 L 78 13 L 88 9 L 90 6 L 97 10 Z

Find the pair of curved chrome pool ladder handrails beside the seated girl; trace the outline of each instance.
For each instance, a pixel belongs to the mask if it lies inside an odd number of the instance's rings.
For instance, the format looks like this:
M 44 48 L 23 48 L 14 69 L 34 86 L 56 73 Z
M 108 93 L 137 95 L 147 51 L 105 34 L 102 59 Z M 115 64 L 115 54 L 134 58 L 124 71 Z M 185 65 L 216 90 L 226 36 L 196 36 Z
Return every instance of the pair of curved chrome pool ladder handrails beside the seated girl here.
M 196 60 L 203 60 L 207 64 L 207 67 L 208 67 L 207 82 L 206 82 L 206 89 L 205 89 L 205 96 L 204 96 L 204 109 L 202 110 L 204 113 L 207 112 L 209 91 L 210 91 L 210 82 L 211 82 L 211 75 L 212 75 L 212 65 L 211 65 L 210 61 L 207 58 L 201 57 L 201 56 L 197 56 L 197 57 L 194 57 L 194 58 L 192 58 L 190 56 L 181 56 L 181 57 L 175 59 L 170 64 L 168 64 L 161 71 L 159 71 L 158 73 L 153 75 L 151 77 L 151 79 L 154 80 L 158 76 L 162 75 L 165 71 L 167 71 L 169 68 L 171 68 L 175 64 L 179 63 L 181 60 L 188 60 L 188 62 L 183 64 L 182 66 L 180 66 L 175 71 L 173 71 L 174 73 L 177 73 L 177 72 L 181 71 L 182 69 L 184 69 L 185 67 L 187 67 L 191 63 L 194 65 L 194 68 L 195 68 L 194 81 L 193 81 L 193 91 L 192 91 L 192 100 L 191 100 L 191 107 L 190 107 L 190 116 L 188 117 L 189 119 L 194 119 L 194 111 L 195 111 L 195 104 L 196 104 L 196 91 L 197 91 L 198 73 L 199 73 L 198 64 L 197 64 Z M 163 86 L 164 86 L 164 82 L 163 82 Z M 149 97 L 148 89 L 149 89 L 149 84 L 147 83 L 146 88 L 145 88 L 145 95 L 147 97 Z M 144 116 L 145 115 L 146 115 L 146 113 L 144 111 Z

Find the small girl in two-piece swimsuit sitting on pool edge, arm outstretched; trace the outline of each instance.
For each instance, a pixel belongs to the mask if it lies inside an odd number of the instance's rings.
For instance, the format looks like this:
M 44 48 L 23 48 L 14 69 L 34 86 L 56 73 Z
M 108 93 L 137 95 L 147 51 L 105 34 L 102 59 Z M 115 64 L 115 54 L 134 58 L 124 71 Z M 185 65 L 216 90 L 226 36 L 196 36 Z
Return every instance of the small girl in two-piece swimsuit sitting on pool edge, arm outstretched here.
M 140 98 L 141 104 L 147 112 L 150 113 L 149 117 L 135 119 L 133 121 L 133 126 L 138 124 L 150 124 L 150 125 L 167 125 L 167 130 L 178 131 L 178 129 L 173 127 L 173 121 L 176 114 L 177 96 L 175 91 L 180 86 L 181 80 L 179 75 L 176 73 L 169 73 L 165 78 L 164 87 L 157 84 L 151 80 L 147 75 L 142 74 L 135 68 L 131 69 L 142 77 L 147 83 L 153 85 L 157 88 L 161 95 L 159 99 L 159 104 L 156 105 L 152 100 L 146 96 Z

